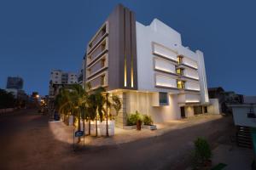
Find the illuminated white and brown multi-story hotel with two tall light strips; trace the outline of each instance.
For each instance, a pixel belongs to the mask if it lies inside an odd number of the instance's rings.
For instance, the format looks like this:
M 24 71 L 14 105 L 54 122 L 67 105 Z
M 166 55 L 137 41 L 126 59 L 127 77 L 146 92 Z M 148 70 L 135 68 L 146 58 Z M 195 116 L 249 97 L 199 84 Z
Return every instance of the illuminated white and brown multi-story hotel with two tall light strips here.
M 203 53 L 183 47 L 180 33 L 160 20 L 144 26 L 118 5 L 91 38 L 86 55 L 86 82 L 122 99 L 119 127 L 135 111 L 154 122 L 207 112 Z

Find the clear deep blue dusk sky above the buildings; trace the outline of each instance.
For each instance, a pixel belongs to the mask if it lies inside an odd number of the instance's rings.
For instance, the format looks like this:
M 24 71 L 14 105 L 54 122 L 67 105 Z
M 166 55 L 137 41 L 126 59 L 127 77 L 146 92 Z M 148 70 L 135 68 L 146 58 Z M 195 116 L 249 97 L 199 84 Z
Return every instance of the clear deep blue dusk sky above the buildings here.
M 205 54 L 208 87 L 256 95 L 256 1 L 0 1 L 0 88 L 24 79 L 26 93 L 48 94 L 52 69 L 79 72 L 85 47 L 122 3 L 149 25 L 157 18 Z

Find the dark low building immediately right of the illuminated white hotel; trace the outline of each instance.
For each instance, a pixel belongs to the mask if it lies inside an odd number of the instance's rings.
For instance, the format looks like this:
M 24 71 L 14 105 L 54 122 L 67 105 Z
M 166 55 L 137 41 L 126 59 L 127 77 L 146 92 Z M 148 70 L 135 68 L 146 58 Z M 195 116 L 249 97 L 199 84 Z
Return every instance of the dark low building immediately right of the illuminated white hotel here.
M 222 113 L 231 113 L 232 109 L 229 105 L 243 103 L 243 95 L 236 94 L 235 92 L 225 92 L 224 88 L 208 88 L 210 99 L 218 99 L 220 111 Z

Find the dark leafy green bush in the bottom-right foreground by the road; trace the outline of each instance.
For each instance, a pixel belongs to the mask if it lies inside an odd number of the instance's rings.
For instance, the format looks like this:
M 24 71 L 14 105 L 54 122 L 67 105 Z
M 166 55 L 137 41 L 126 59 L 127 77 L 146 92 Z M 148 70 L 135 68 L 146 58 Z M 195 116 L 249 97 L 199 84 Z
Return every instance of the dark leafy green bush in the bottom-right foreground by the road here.
M 210 144 L 208 144 L 206 139 L 198 138 L 194 142 L 195 149 L 192 152 L 192 162 L 193 167 L 197 169 L 198 167 L 205 167 L 207 161 L 210 161 L 212 157 L 212 150 Z

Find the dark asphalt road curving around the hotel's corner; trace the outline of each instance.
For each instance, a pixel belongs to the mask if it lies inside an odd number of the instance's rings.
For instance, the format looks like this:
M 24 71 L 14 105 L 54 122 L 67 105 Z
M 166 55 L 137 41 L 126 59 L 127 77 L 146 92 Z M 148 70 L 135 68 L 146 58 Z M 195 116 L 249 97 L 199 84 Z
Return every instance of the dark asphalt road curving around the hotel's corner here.
M 36 111 L 0 116 L 0 169 L 185 169 L 193 141 L 211 144 L 229 136 L 230 117 L 187 127 L 152 139 L 74 152 L 56 140 L 48 117 Z

